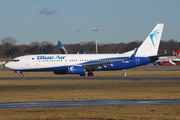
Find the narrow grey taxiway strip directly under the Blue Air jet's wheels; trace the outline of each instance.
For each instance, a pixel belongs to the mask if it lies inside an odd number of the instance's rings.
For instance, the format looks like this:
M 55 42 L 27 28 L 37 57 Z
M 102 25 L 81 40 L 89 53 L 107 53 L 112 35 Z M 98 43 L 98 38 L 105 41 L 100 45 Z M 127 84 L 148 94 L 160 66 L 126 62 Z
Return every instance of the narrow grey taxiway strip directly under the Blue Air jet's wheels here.
M 180 76 L 1 76 L 0 80 L 180 80 Z

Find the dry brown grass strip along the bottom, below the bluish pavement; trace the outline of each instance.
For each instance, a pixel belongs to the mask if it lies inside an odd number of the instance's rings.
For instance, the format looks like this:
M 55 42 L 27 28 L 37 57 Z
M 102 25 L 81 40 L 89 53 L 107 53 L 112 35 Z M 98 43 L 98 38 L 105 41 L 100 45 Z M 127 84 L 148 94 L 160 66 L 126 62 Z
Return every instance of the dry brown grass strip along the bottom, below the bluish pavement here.
M 0 109 L 0 120 L 179 120 L 180 105 Z

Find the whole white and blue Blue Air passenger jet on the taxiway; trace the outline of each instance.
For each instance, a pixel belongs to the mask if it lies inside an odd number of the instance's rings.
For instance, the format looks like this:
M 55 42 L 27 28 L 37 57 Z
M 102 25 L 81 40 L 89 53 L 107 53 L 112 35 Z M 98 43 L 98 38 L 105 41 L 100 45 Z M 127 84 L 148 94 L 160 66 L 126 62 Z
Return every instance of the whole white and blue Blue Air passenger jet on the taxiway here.
M 14 58 L 5 67 L 24 76 L 24 72 L 52 71 L 54 74 L 93 76 L 94 71 L 130 69 L 153 63 L 157 54 L 164 24 L 159 23 L 139 48 L 123 54 L 36 54 Z

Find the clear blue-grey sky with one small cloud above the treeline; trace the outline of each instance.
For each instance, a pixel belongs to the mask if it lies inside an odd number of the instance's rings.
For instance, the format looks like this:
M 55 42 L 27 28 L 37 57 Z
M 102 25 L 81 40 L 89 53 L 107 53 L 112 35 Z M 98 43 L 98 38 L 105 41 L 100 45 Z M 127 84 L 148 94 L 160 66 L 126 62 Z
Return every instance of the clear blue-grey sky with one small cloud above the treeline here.
M 0 0 L 0 40 L 18 45 L 143 41 L 157 23 L 162 40 L 180 41 L 180 0 Z

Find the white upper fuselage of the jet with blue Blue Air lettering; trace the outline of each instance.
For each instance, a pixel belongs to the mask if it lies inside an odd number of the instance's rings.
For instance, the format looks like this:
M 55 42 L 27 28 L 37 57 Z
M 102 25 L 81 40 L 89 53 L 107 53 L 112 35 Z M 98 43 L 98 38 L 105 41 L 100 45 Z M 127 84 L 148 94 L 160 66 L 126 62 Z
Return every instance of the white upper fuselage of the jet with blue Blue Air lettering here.
M 37 54 L 25 55 L 13 59 L 6 64 L 6 67 L 12 70 L 28 70 L 28 69 L 43 69 L 57 68 L 63 66 L 78 66 L 86 64 L 97 64 L 103 62 L 115 62 L 127 59 L 130 55 L 127 54 Z M 118 63 L 118 62 L 117 62 Z M 122 63 L 122 61 L 120 62 Z M 123 63 L 129 63 L 124 61 Z M 146 63 L 147 64 L 147 63 Z

